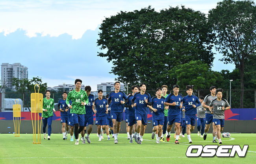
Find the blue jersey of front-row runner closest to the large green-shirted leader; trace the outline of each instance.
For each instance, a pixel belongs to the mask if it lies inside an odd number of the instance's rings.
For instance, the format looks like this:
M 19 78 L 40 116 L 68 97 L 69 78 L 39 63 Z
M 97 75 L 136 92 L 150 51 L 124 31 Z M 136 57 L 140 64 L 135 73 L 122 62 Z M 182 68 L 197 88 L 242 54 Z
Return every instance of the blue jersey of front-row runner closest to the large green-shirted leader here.
M 115 93 L 112 91 L 109 93 L 108 104 L 111 102 L 111 111 L 112 112 L 123 112 L 124 105 L 121 104 L 121 101 L 127 100 L 126 95 L 124 92 L 119 91 Z

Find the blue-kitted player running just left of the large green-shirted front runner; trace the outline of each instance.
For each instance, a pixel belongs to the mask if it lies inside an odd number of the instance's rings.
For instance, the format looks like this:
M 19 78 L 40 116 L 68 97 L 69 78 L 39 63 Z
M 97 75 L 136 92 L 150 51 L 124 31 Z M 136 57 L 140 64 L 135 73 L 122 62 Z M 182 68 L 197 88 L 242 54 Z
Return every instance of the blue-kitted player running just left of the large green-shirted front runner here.
M 62 134 L 63 134 L 63 140 L 67 140 L 67 133 L 69 131 L 69 124 L 68 124 L 68 111 L 69 111 L 69 107 L 66 104 L 66 100 L 67 100 L 67 92 L 64 91 L 62 93 L 62 99 L 59 100 L 58 103 L 58 109 L 60 111 L 60 118 L 61 118 L 61 130 L 62 130 Z

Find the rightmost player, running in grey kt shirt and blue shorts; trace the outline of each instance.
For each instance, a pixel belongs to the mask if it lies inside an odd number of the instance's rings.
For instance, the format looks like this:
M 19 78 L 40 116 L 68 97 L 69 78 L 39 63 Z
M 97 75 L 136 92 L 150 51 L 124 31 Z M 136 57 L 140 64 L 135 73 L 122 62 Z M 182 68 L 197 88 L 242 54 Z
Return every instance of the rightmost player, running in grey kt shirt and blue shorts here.
M 210 107 L 209 110 L 211 111 L 212 109 L 211 114 L 213 114 L 213 122 L 215 123 L 215 127 L 217 130 L 217 137 L 219 138 L 219 144 L 222 144 L 221 131 L 223 131 L 223 127 L 224 127 L 224 119 L 225 119 L 224 111 L 230 109 L 230 105 L 228 104 L 228 101 L 222 98 L 223 89 L 217 88 L 216 93 L 217 93 L 217 98 L 214 100 L 211 100 L 209 105 Z

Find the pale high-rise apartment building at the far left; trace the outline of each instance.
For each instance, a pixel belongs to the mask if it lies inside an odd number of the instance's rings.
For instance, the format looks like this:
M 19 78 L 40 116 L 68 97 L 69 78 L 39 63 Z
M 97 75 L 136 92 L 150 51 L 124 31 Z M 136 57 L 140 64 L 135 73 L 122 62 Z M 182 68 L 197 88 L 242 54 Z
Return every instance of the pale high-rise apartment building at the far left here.
M 1 65 L 1 85 L 6 81 L 6 87 L 14 89 L 11 85 L 12 78 L 28 79 L 28 67 L 21 65 L 20 63 L 2 63 Z

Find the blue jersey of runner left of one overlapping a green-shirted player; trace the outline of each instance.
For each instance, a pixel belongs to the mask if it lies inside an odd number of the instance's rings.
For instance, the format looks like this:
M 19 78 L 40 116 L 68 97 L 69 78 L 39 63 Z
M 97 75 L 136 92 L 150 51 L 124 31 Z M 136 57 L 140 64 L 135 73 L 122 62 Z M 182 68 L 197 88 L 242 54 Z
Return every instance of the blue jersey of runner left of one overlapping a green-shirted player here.
M 148 103 L 145 103 L 146 99 L 148 99 Z M 136 101 L 135 114 L 148 114 L 147 105 L 152 105 L 150 94 L 147 92 L 145 92 L 145 94 L 137 92 L 132 98 L 132 103 L 134 103 L 134 101 Z

